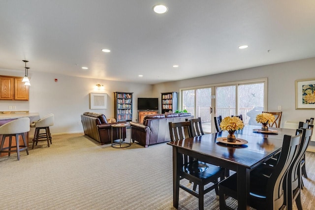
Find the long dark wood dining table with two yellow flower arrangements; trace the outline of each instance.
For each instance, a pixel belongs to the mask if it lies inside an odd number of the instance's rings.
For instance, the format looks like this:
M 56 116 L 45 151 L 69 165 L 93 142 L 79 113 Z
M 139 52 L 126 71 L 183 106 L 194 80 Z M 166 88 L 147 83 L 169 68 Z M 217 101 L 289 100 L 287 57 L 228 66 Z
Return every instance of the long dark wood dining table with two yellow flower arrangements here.
M 194 138 L 169 142 L 173 146 L 173 206 L 178 208 L 179 192 L 176 189 L 177 172 L 180 169 L 181 154 L 187 154 L 200 161 L 221 166 L 237 173 L 237 200 L 239 210 L 249 210 L 250 172 L 258 165 L 279 153 L 284 135 L 295 135 L 295 129 L 269 128 L 276 133 L 260 133 L 253 129 L 259 126 L 246 125 L 235 132 L 237 139 L 248 141 L 245 145 L 227 145 L 217 141 L 228 132 L 210 133 Z

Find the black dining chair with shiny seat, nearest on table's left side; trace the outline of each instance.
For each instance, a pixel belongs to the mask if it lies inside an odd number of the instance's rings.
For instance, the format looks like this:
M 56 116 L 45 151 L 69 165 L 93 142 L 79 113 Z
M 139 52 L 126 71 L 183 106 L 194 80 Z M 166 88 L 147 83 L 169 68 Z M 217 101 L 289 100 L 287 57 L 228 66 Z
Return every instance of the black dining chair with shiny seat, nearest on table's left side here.
M 192 137 L 191 126 L 189 121 L 185 122 L 169 122 L 169 131 L 171 141 L 179 141 L 185 138 Z M 204 195 L 211 190 L 215 189 L 216 193 L 219 194 L 218 182 L 225 178 L 224 169 L 219 166 L 215 166 L 209 163 L 201 162 L 189 155 L 182 155 L 182 158 L 178 158 L 180 161 L 180 167 L 177 170 L 177 195 L 174 195 L 179 201 L 179 189 L 183 189 L 191 195 L 198 198 L 199 210 L 204 209 Z M 192 190 L 183 184 L 180 180 L 189 180 L 193 182 Z M 212 185 L 208 185 L 213 183 Z M 196 187 L 198 185 L 198 191 Z M 207 188 L 205 186 L 207 185 Z

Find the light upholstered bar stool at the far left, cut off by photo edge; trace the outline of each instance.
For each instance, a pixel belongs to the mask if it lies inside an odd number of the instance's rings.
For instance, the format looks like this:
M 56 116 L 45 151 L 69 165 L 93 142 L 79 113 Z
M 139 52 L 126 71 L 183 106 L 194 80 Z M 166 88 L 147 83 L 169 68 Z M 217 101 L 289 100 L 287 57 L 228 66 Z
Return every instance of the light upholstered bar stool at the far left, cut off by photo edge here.
M 25 139 L 25 132 L 30 131 L 30 119 L 29 118 L 20 118 L 17 120 L 12 120 L 8 123 L 5 123 L 0 126 L 0 134 L 2 134 L 2 141 L 0 146 L 0 152 L 9 153 L 10 156 L 11 152 L 17 152 L 18 160 L 20 160 L 20 151 L 26 150 L 26 153 L 29 155 L 28 145 Z M 19 144 L 19 136 L 22 136 L 24 146 L 20 146 Z M 12 136 L 15 136 L 16 146 L 11 146 L 12 143 Z M 9 137 L 9 147 L 3 148 L 5 138 Z M 16 150 L 12 150 L 12 148 L 16 148 Z

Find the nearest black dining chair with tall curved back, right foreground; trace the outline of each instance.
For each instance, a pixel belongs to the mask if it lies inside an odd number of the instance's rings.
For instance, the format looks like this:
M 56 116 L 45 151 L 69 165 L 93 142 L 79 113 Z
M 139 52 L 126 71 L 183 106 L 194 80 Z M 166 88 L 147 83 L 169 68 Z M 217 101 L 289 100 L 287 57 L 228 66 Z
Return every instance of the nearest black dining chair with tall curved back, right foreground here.
M 284 208 L 286 194 L 284 193 L 284 184 L 286 184 L 286 175 L 296 157 L 302 133 L 296 136 L 284 135 L 281 154 L 277 165 L 274 167 L 270 177 L 255 176 L 255 169 L 250 172 L 250 194 L 248 204 L 256 210 L 278 210 Z M 285 181 L 285 182 L 284 182 Z M 237 174 L 219 182 L 220 210 L 226 206 L 225 198 L 230 196 L 237 198 Z

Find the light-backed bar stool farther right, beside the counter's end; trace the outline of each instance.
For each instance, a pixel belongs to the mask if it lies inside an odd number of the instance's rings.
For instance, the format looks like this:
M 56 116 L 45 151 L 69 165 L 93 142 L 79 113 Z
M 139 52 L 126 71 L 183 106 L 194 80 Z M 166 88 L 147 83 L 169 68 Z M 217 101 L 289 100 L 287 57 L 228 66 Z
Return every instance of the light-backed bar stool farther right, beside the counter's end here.
M 53 126 L 53 125 L 54 125 L 54 114 L 49 114 L 46 117 L 38 121 L 35 121 L 31 124 L 31 127 L 35 128 L 34 138 L 32 140 L 33 141 L 32 149 L 34 149 L 35 143 L 37 146 L 37 143 L 40 141 L 47 141 L 48 147 L 50 147 L 50 144 L 52 144 L 52 141 L 51 141 L 52 138 L 51 138 L 49 126 Z M 41 129 L 44 129 L 45 132 L 40 133 Z

